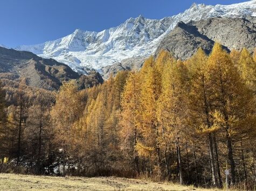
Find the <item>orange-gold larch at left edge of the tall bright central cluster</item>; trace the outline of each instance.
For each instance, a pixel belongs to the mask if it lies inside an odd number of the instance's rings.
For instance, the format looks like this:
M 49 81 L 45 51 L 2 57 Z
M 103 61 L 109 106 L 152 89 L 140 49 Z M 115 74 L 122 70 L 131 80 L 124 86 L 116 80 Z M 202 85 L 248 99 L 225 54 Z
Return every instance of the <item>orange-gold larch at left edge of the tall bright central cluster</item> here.
M 134 71 L 130 72 L 122 93 L 119 136 L 121 138 L 121 149 L 130 160 L 135 170 L 140 173 L 139 156 L 135 150 L 138 143 L 140 122 L 140 77 Z

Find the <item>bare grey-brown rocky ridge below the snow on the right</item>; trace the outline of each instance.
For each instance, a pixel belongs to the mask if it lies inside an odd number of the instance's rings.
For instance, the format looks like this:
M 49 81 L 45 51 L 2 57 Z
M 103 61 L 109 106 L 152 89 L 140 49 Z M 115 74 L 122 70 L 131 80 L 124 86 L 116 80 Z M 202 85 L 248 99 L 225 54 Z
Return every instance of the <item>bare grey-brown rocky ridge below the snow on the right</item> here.
M 180 22 L 163 38 L 155 54 L 164 49 L 185 60 L 199 47 L 209 54 L 215 41 L 227 51 L 243 47 L 253 51 L 256 47 L 255 18 L 209 18 L 188 24 Z

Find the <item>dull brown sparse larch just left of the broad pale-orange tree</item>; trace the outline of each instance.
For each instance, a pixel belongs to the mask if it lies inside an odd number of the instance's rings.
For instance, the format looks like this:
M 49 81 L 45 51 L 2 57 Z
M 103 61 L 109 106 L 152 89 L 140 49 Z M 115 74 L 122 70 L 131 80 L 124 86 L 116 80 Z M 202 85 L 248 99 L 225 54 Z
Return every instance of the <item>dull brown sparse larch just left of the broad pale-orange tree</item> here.
M 31 148 L 32 155 L 35 156 L 38 174 L 44 172 L 46 160 L 49 160 L 49 157 L 46 159 L 45 156 L 51 155 L 49 148 L 52 144 L 53 129 L 50 122 L 50 109 L 53 100 L 52 93 L 37 91 L 36 98 L 28 109 L 29 116 L 27 117 L 25 134 L 29 137 L 27 142 L 30 143 L 28 146 Z

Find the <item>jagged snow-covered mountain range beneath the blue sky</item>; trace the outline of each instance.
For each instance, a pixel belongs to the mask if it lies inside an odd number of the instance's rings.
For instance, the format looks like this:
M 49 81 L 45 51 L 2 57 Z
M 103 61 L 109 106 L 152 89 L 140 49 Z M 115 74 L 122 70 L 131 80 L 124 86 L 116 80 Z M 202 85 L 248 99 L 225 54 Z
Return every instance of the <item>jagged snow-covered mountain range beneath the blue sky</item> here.
M 256 17 L 256 0 L 232 5 L 192 4 L 188 10 L 172 17 L 156 20 L 139 16 L 101 32 L 75 30 L 57 40 L 39 45 L 23 45 L 16 49 L 54 58 L 68 64 L 75 71 L 86 73 L 88 69 L 99 70 L 125 58 L 153 54 L 157 44 L 179 21 L 188 23 L 212 17 L 247 16 Z

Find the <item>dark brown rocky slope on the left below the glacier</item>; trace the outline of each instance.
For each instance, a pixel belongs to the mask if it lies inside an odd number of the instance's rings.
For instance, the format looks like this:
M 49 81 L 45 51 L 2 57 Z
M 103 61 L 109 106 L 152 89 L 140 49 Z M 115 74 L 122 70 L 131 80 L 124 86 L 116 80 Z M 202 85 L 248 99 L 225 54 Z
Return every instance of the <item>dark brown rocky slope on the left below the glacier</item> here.
M 99 74 L 93 74 L 95 75 Z M 26 78 L 27 85 L 54 90 L 64 80 L 79 81 L 81 75 L 52 58 L 41 58 L 30 52 L 0 47 L 0 78 L 16 80 L 19 77 Z M 87 79 L 84 84 L 91 83 L 89 76 Z

